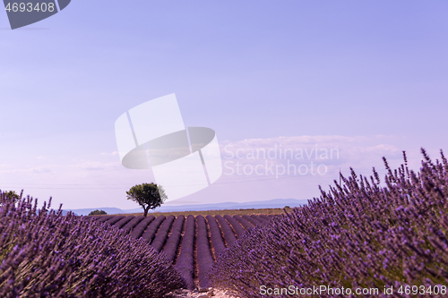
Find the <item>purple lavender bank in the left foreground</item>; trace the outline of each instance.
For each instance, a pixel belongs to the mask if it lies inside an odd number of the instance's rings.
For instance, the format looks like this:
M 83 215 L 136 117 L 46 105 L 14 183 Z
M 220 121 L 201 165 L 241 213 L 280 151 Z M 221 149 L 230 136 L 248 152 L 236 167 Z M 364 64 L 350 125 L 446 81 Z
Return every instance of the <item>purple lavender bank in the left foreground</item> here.
M 162 297 L 184 285 L 144 240 L 30 197 L 0 207 L 0 234 L 0 297 Z

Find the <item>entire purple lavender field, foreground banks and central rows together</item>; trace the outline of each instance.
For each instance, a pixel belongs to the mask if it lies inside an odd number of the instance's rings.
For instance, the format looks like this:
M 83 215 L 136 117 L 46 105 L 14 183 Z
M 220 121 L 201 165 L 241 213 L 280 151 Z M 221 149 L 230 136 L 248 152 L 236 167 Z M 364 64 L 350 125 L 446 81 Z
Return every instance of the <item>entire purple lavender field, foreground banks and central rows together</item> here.
M 372 297 L 425 297 L 436 286 L 429 296 L 444 296 L 448 162 L 443 152 L 435 163 L 422 153 L 418 173 L 403 153 L 395 170 L 384 159 L 384 186 L 375 169 L 368 178 L 352 170 L 280 216 L 62 216 L 2 193 L 0 296 L 162 297 L 214 286 L 250 298 L 266 297 L 262 286 L 290 285 L 418 287 L 362 295 Z

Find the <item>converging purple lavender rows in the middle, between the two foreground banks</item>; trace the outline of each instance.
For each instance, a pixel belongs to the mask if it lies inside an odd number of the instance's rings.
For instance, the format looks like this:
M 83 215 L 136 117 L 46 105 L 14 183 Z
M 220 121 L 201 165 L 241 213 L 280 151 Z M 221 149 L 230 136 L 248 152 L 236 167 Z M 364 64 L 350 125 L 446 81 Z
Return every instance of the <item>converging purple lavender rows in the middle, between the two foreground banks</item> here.
M 273 216 L 271 216 L 273 217 Z M 162 251 L 172 261 L 188 288 L 194 288 L 194 277 L 198 277 L 201 287 L 211 286 L 208 273 L 220 252 L 237 242 L 248 229 L 263 226 L 269 216 L 184 216 L 134 217 L 134 216 L 101 216 L 95 218 L 105 226 L 116 226 L 131 234 L 134 238 L 142 238 L 156 251 Z M 185 226 L 185 229 L 184 229 Z M 184 232 L 184 236 L 182 236 Z M 210 235 L 209 235 L 210 234 Z M 196 247 L 196 256 L 194 248 Z M 176 259 L 177 254 L 179 257 Z M 200 256 L 199 258 L 197 256 Z M 197 264 L 197 275 L 195 265 Z

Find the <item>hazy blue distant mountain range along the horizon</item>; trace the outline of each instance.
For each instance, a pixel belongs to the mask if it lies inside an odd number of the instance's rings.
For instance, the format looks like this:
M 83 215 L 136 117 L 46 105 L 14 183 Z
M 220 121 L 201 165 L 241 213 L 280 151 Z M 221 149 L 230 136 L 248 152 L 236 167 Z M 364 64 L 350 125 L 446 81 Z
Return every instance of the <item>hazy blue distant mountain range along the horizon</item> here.
M 296 200 L 296 199 L 274 199 L 274 200 L 258 200 L 248 201 L 244 203 L 237 202 L 225 202 L 215 204 L 188 204 L 180 206 L 162 205 L 154 212 L 177 212 L 177 211 L 205 211 L 205 210 L 224 210 L 224 209 L 267 209 L 267 208 L 284 208 L 298 207 L 306 205 L 308 200 Z M 77 215 L 89 215 L 93 210 L 104 210 L 108 214 L 124 214 L 124 213 L 142 213 L 142 208 L 137 209 L 119 209 L 114 207 L 99 207 L 99 208 L 86 208 L 86 209 L 67 209 L 65 211 L 72 211 Z M 151 210 L 150 210 L 151 213 Z

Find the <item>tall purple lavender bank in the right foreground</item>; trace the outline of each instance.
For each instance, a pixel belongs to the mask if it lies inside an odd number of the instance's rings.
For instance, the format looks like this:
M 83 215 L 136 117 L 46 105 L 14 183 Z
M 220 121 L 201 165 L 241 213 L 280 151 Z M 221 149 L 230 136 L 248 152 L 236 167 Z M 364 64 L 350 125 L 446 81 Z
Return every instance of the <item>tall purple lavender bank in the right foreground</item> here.
M 369 179 L 351 170 L 342 187 L 335 181 L 307 206 L 247 231 L 222 251 L 211 281 L 243 297 L 261 297 L 261 285 L 379 288 L 372 297 L 385 297 L 384 285 L 447 285 L 448 163 L 442 151 L 435 164 L 422 153 L 418 173 L 404 152 L 394 171 L 383 158 L 385 186 L 375 168 Z

